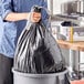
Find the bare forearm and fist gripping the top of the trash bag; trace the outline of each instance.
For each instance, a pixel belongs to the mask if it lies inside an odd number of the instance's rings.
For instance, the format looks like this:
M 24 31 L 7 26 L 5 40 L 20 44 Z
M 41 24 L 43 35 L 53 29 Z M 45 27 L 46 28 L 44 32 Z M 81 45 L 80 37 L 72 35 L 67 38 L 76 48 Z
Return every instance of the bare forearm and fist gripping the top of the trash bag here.
M 31 12 L 31 13 L 10 12 L 4 18 L 4 20 L 7 20 L 7 21 L 30 20 L 32 22 L 39 22 L 40 19 L 41 19 L 41 13 L 36 13 L 36 12 Z

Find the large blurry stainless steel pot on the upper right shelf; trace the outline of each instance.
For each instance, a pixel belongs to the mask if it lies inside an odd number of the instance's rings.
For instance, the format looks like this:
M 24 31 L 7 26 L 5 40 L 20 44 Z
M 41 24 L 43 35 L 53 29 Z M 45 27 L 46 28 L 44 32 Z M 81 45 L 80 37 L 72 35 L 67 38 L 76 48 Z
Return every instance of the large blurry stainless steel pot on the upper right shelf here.
M 75 1 L 67 1 L 62 3 L 61 6 L 62 13 L 84 13 L 84 1 L 83 0 L 75 0 Z

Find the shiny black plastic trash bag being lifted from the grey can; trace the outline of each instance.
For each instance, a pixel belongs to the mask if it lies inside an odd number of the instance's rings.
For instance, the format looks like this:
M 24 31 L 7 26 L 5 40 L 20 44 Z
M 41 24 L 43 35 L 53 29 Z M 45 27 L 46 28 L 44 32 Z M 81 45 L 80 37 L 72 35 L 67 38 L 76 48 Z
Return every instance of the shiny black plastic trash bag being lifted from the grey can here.
M 41 21 L 27 24 L 21 33 L 14 55 L 14 70 L 39 74 L 65 70 L 61 50 Z

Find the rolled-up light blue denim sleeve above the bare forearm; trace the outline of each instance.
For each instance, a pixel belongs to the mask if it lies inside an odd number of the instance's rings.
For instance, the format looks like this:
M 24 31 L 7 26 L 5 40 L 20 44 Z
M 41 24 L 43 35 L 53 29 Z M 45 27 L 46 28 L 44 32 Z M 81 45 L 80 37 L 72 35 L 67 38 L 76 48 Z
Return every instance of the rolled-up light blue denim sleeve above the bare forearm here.
M 0 17 L 2 20 L 12 12 L 11 0 L 0 0 Z

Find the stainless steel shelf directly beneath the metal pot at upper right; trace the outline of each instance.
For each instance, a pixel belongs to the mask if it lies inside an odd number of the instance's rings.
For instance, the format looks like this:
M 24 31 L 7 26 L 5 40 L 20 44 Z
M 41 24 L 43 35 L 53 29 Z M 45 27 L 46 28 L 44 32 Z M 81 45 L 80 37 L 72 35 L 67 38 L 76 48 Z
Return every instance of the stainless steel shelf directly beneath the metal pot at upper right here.
M 84 14 L 83 14 L 84 15 Z M 84 20 L 78 19 L 80 15 L 66 15 L 66 14 L 55 14 L 55 15 L 51 15 L 51 20 L 52 21 L 71 21 L 80 27 L 84 27 Z M 84 19 L 84 17 L 82 17 Z

